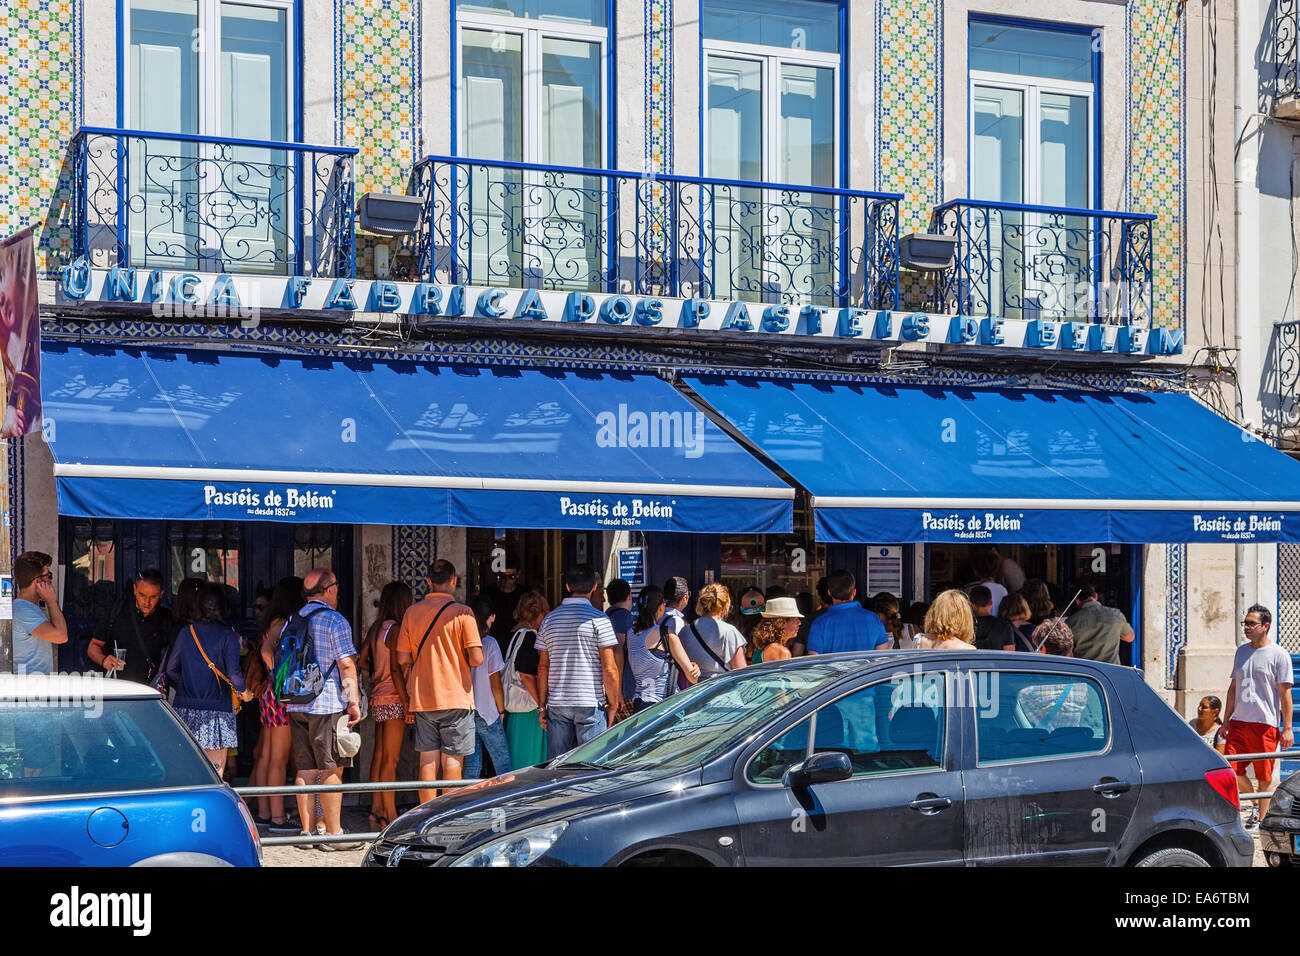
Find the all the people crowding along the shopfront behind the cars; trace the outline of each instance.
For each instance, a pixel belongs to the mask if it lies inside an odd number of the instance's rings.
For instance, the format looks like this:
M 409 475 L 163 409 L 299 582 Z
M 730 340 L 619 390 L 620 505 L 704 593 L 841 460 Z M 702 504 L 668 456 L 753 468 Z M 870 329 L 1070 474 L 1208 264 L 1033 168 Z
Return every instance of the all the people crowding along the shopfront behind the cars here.
M 906 610 L 888 592 L 863 601 L 845 570 L 822 579 L 815 596 L 751 587 L 733 600 L 716 581 L 694 594 L 680 576 L 633 594 L 623 580 L 604 587 L 590 564 L 566 572 L 566 596 L 554 607 L 541 591 L 521 587 L 515 568 L 495 572 L 493 584 L 463 604 L 456 568 L 439 559 L 428 567 L 421 600 L 400 581 L 382 589 L 359 645 L 337 610 L 338 580 L 329 570 L 259 592 L 252 640 L 230 626 L 221 585 L 186 579 L 168 609 L 161 574 L 146 570 L 100 622 L 87 656 L 110 674 L 168 689 L 218 771 L 228 771 L 237 747 L 235 713 L 256 700 L 252 786 L 283 782 L 290 767 L 300 784 L 341 782 L 360 749 L 354 728 L 363 709 L 374 723 L 369 779 L 395 780 L 411 727 L 419 779 L 430 784 L 420 790 L 425 801 L 439 780 L 533 766 L 701 680 L 805 654 L 976 648 L 1119 663 L 1132 627 L 1101 604 L 1091 581 L 1078 581 L 1058 609 L 1044 581 L 1022 575 L 1010 588 L 1015 579 L 1000 572 L 1000 555 L 985 554 L 979 580 Z M 49 672 L 52 645 L 66 641 L 49 557 L 20 555 L 14 578 L 16 663 Z M 324 683 L 313 698 L 286 704 L 272 675 L 281 635 L 295 619 L 309 630 Z M 1270 624 L 1266 609 L 1251 609 L 1249 643 L 1238 649 L 1227 706 L 1206 697 L 1190 721 L 1230 754 L 1294 744 L 1290 731 L 1278 731 L 1283 719 L 1284 727 L 1291 722 L 1291 661 L 1268 641 Z M 1271 761 L 1254 767 L 1256 782 L 1266 784 Z M 1236 769 L 1249 790 L 1245 765 Z M 396 817 L 394 801 L 393 791 L 372 795 L 373 826 Z M 259 797 L 259 825 L 272 832 L 342 832 L 341 795 L 299 796 L 296 818 L 286 803 Z

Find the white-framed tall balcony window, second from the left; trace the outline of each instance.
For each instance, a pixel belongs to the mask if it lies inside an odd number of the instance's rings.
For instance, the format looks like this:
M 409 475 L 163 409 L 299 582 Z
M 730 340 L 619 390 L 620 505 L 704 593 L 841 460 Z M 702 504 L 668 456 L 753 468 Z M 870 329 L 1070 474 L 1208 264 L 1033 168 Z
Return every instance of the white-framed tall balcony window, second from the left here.
M 459 3 L 456 26 L 462 156 L 604 166 L 602 0 Z M 471 282 L 603 287 L 604 179 L 474 165 L 456 185 L 478 233 L 460 239 Z

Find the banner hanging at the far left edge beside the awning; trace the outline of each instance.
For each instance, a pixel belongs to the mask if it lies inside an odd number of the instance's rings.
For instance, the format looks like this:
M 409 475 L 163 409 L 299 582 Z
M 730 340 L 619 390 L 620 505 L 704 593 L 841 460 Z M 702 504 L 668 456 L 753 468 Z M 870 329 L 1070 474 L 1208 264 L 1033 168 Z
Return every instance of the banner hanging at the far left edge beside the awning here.
M 31 229 L 0 242 L 0 360 L 4 420 L 0 438 L 40 429 L 40 312 Z

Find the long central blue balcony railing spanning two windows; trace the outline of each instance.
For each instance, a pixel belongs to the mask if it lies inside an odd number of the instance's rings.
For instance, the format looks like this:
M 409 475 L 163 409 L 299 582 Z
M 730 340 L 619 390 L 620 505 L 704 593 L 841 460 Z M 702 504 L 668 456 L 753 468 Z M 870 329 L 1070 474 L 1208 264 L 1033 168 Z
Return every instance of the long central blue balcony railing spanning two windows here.
M 429 156 L 428 281 L 897 308 L 897 194 Z

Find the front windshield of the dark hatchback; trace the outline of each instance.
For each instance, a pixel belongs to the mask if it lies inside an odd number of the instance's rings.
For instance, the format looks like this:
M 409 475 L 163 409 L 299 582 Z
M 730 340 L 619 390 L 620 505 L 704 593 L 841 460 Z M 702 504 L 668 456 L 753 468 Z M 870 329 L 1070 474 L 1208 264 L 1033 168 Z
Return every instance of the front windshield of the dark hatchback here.
M 840 659 L 714 678 L 616 723 L 569 750 L 556 766 L 672 769 L 702 763 L 777 711 L 861 667 L 861 661 Z

